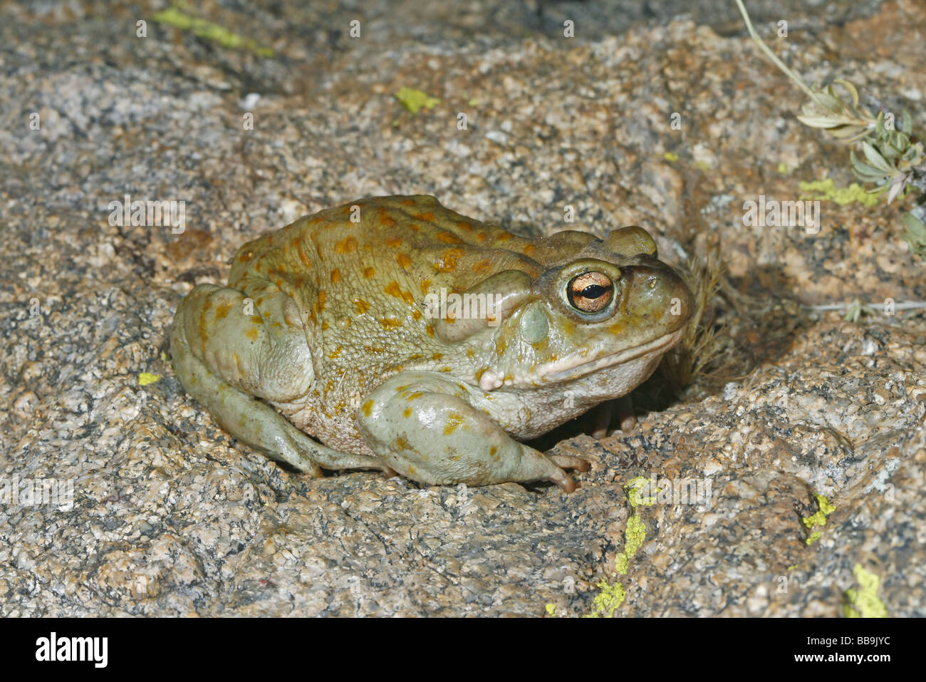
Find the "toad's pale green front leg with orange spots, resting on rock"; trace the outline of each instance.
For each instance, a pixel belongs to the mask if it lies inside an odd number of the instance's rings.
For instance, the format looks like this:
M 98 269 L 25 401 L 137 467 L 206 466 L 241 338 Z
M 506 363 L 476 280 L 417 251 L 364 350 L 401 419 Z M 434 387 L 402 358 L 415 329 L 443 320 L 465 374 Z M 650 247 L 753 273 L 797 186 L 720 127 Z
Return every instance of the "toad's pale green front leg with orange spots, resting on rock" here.
M 552 459 L 520 444 L 470 403 L 466 385 L 439 373 L 396 374 L 357 412 L 369 448 L 395 471 L 419 483 L 484 486 L 546 480 L 566 492 L 572 478 Z M 578 458 L 560 458 L 586 469 Z

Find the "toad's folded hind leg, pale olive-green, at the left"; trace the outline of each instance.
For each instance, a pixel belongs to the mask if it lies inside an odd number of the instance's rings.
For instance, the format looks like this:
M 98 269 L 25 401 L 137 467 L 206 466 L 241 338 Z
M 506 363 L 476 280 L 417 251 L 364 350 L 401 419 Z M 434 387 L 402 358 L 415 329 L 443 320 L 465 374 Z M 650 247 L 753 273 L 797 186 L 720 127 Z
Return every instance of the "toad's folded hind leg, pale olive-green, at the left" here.
M 293 300 L 280 292 L 258 300 L 260 308 L 251 303 L 254 314 L 245 314 L 250 310 L 242 292 L 200 284 L 181 301 L 170 333 L 170 355 L 186 392 L 232 436 L 299 471 L 320 476 L 322 466 L 390 473 L 372 457 L 315 442 L 257 399 L 297 400 L 314 378 Z

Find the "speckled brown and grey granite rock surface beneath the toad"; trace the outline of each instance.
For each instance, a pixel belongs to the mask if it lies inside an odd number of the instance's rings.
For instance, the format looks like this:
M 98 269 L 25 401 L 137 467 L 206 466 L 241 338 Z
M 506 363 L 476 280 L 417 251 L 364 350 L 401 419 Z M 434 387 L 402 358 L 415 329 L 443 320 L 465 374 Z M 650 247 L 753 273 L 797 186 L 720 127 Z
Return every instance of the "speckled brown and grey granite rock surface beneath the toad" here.
M 926 316 L 809 308 L 926 300 L 926 266 L 896 204 L 744 227 L 746 200 L 853 178 L 729 5 L 206 3 L 226 44 L 166 4 L 0 8 L 0 614 L 838 615 L 875 575 L 887 613 L 926 615 Z M 747 5 L 808 82 L 926 123 L 921 3 Z M 441 101 L 412 113 L 403 86 Z M 593 462 L 569 496 L 310 480 L 237 446 L 169 369 L 177 301 L 301 214 L 415 193 L 523 234 L 718 249 L 729 380 L 559 443 Z M 125 195 L 185 201 L 185 230 L 111 225 Z M 30 502 L 39 479 L 62 497 Z

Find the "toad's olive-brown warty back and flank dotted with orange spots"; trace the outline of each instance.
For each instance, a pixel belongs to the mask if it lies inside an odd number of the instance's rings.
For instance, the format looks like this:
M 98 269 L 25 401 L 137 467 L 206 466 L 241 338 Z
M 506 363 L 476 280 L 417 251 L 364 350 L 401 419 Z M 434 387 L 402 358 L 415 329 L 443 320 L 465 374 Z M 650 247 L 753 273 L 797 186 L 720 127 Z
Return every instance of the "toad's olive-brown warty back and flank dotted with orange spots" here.
M 317 375 L 364 366 L 382 381 L 439 354 L 424 315 L 431 292 L 461 292 L 494 272 L 536 277 L 532 241 L 460 215 L 433 196 L 364 199 L 294 221 L 242 246 L 229 286 L 260 308 L 292 297 L 314 340 Z M 440 369 L 440 359 L 434 369 Z

